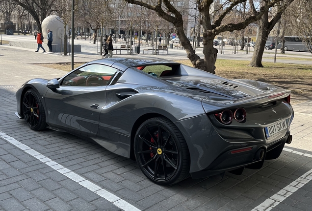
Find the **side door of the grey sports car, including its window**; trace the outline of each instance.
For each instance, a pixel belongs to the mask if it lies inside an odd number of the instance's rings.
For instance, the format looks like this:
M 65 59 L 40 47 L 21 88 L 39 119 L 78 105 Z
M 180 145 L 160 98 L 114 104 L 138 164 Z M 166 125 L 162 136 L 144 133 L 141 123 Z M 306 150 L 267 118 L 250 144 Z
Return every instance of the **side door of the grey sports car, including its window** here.
M 81 135 L 96 135 L 105 89 L 117 69 L 103 64 L 83 66 L 67 76 L 57 89 L 45 95 L 47 122 L 52 127 Z

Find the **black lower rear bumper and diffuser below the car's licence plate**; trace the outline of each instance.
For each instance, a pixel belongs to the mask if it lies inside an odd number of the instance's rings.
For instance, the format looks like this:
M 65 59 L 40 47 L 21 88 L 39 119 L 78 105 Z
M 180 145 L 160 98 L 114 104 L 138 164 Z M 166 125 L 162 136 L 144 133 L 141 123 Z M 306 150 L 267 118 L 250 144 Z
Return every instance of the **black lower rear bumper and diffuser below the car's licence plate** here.
M 244 168 L 260 169 L 265 159 L 276 159 L 280 156 L 289 134 L 290 131 L 288 130 L 283 138 L 271 143 L 270 145 L 256 144 L 253 146 L 225 151 L 220 154 L 220 156 L 218 156 L 206 169 L 192 172 L 191 176 L 193 179 L 199 179 L 236 169 L 241 169 L 241 172 Z M 247 151 L 235 152 L 240 149 L 246 150 L 249 148 L 251 149 Z M 260 150 L 264 150 L 264 156 L 262 159 L 259 157 Z

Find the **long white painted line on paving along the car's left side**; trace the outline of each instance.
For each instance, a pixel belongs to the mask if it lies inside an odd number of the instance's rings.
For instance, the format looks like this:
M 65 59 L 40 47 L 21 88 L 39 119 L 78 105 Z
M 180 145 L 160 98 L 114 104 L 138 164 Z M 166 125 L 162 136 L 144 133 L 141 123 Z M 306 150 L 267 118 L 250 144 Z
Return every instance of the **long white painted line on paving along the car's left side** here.
M 124 211 L 140 211 L 139 209 L 137 209 L 133 205 L 129 204 L 125 200 L 123 200 L 123 199 L 119 198 L 118 196 L 108 192 L 107 190 L 102 189 L 100 186 L 86 180 L 85 178 L 83 178 L 82 176 L 78 175 L 77 173 L 71 171 L 70 169 L 67 169 L 67 168 L 63 167 L 62 165 L 56 163 L 55 161 L 52 161 L 50 158 L 40 154 L 39 152 L 37 152 L 36 150 L 34 150 L 32 148 L 29 148 L 28 146 L 17 141 L 13 137 L 8 136 L 7 134 L 2 132 L 1 130 L 0 130 L 0 137 L 5 139 L 9 143 L 13 144 L 14 146 L 22 149 L 27 154 L 29 154 L 29 155 L 35 157 L 36 159 L 40 160 L 42 163 L 47 164 L 52 169 L 57 170 L 58 172 L 60 172 L 64 176 L 67 176 L 71 180 L 77 182 L 78 184 L 85 187 L 86 189 L 91 190 L 92 192 L 98 194 L 99 196 L 103 197 L 107 201 L 113 203 L 116 207 L 118 207 Z

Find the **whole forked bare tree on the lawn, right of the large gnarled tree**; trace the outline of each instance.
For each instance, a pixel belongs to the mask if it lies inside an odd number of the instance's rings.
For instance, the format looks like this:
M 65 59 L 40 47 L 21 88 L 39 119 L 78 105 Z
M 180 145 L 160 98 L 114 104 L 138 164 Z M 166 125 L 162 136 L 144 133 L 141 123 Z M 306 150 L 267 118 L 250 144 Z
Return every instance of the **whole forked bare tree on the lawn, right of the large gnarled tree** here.
M 281 19 L 282 14 L 285 12 L 287 6 L 289 6 L 290 3 L 293 1 L 294 0 L 283 0 L 281 2 L 278 2 L 276 7 L 274 7 L 274 10 L 271 9 L 270 11 L 265 11 L 265 13 L 262 15 L 260 21 L 258 21 L 259 34 L 256 41 L 253 57 L 249 63 L 249 66 L 263 67 L 262 55 L 264 52 L 265 42 L 275 24 Z M 266 4 L 267 0 L 261 0 L 262 6 Z M 272 16 L 271 21 L 269 21 L 269 13 Z

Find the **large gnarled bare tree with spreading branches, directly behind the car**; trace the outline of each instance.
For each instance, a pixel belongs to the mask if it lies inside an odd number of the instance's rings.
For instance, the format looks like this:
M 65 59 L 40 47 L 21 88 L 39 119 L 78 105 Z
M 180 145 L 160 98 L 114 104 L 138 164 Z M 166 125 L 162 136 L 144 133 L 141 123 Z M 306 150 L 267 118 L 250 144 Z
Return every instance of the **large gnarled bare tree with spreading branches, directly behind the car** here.
M 261 7 L 258 8 L 257 12 L 251 14 L 250 16 L 246 17 L 246 19 L 238 23 L 223 23 L 223 19 L 228 14 L 231 14 L 238 5 L 245 3 L 247 0 L 225 0 L 225 2 L 219 6 L 220 16 L 213 21 L 210 17 L 209 8 L 214 0 L 196 0 L 198 12 L 201 17 L 200 21 L 203 26 L 204 59 L 201 59 L 196 54 L 196 51 L 192 48 L 190 41 L 187 39 L 187 36 L 184 33 L 184 22 L 182 19 L 182 14 L 175 7 L 175 5 L 171 4 L 170 0 L 157 0 L 156 2 L 150 2 L 148 0 L 125 1 L 154 10 L 159 17 L 173 23 L 176 27 L 177 35 L 180 38 L 181 44 L 186 51 L 187 57 L 193 66 L 211 73 L 215 73 L 214 64 L 216 62 L 218 50 L 213 47 L 214 37 L 221 32 L 232 32 L 234 30 L 241 30 L 245 28 L 248 24 L 259 20 L 265 12 L 267 12 L 272 6 L 281 0 L 266 0 L 266 3 L 262 4 Z M 249 3 L 252 4 L 252 6 L 254 4 L 253 0 L 249 0 Z

